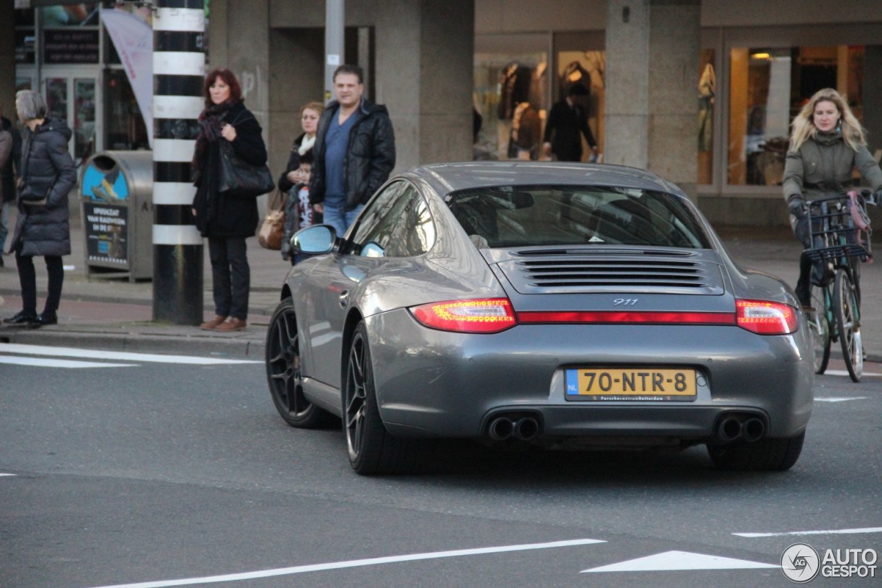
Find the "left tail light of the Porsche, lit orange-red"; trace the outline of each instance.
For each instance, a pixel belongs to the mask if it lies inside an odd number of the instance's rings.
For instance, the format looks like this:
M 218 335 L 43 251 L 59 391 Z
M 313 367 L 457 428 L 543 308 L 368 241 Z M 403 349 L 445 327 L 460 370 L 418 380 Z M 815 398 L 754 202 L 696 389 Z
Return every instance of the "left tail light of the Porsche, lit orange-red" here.
M 410 311 L 420 323 L 441 331 L 495 333 L 518 324 L 507 298 L 431 302 Z

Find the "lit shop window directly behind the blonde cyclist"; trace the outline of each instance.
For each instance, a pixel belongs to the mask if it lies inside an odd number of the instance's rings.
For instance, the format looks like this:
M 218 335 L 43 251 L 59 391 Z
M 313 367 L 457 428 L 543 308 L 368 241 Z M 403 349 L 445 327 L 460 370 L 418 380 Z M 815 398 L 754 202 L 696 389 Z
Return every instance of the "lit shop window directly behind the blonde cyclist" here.
M 789 124 L 811 95 L 836 88 L 863 113 L 863 47 L 733 48 L 729 184 L 780 185 Z

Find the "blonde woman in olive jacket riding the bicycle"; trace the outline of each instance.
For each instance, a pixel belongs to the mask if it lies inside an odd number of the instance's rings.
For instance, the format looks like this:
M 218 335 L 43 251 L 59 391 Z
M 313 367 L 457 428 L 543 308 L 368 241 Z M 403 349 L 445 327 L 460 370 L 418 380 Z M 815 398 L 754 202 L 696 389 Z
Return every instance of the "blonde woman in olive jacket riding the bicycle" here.
M 796 115 L 791 127 L 784 166 L 784 198 L 790 211 L 790 226 L 809 248 L 811 235 L 804 202 L 851 190 L 856 184 L 855 168 L 873 190 L 882 190 L 882 169 L 867 149 L 861 123 L 833 88 L 818 90 Z M 803 253 L 796 296 L 804 307 L 811 307 L 810 276 L 811 258 Z

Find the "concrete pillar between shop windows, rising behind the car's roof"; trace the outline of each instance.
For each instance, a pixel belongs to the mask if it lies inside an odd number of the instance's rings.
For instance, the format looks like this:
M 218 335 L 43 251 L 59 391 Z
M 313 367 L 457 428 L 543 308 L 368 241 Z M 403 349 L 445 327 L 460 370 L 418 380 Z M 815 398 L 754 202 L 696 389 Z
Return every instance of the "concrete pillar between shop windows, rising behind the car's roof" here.
M 698 182 L 699 0 L 608 0 L 608 163 L 646 167 L 693 199 Z

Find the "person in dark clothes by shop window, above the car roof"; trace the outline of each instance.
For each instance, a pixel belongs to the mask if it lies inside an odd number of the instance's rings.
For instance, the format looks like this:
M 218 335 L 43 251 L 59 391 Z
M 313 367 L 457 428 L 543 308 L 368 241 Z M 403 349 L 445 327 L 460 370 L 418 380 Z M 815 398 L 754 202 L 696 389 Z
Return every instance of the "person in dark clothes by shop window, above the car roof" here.
M 585 136 L 588 146 L 594 155 L 599 153 L 597 141 L 588 127 L 588 115 L 579 98 L 588 95 L 587 87 L 582 84 L 570 86 L 566 97 L 555 102 L 545 123 L 544 152 L 546 157 L 554 153 L 558 161 L 581 161 L 582 138 Z

